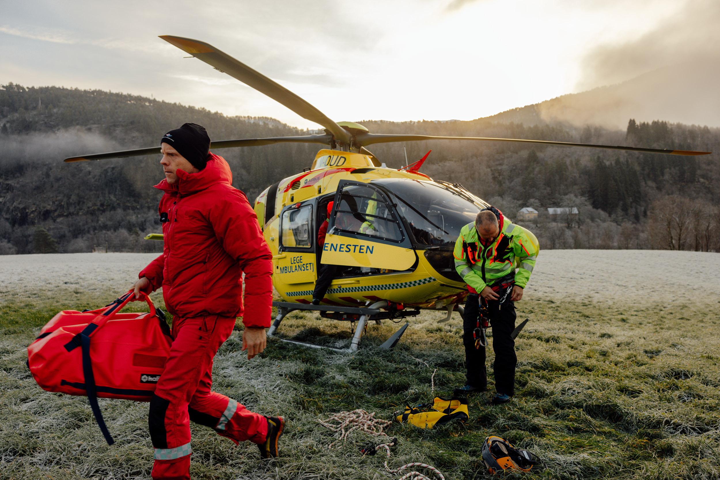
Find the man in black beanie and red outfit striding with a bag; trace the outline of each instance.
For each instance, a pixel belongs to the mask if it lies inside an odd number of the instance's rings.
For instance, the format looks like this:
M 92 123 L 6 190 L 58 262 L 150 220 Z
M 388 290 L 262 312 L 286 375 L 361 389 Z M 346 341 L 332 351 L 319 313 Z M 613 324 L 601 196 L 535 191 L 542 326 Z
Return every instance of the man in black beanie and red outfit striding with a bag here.
M 243 350 L 262 353 L 270 326 L 271 253 L 258 219 L 210 137 L 186 123 L 161 139 L 165 192 L 158 212 L 163 254 L 135 283 L 149 293 L 163 288 L 173 314 L 173 345 L 150 400 L 153 479 L 189 480 L 190 425 L 206 425 L 238 443 L 257 443 L 262 458 L 277 456 L 283 417 L 264 417 L 211 390 L 212 359 L 243 317 Z M 243 307 L 243 272 L 245 295 Z

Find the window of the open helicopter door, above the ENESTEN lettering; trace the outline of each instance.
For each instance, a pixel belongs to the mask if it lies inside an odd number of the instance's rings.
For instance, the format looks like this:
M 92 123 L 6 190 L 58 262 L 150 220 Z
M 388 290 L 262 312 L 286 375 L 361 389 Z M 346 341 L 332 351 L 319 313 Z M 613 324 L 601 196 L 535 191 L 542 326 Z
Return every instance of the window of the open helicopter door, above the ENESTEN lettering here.
M 343 187 L 335 217 L 338 230 L 391 242 L 402 241 L 402 230 L 377 191 L 361 185 Z

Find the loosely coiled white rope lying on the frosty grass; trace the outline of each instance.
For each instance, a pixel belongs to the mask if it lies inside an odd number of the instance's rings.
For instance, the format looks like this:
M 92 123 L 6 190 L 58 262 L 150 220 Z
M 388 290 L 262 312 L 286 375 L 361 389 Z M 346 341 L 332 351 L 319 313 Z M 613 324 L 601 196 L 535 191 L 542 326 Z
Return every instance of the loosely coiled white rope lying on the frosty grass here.
M 384 435 L 388 437 L 389 435 L 387 435 L 387 433 L 384 433 L 382 429 L 392 424 L 392 422 L 388 420 L 381 420 L 379 418 L 375 418 L 375 412 L 368 413 L 363 409 L 356 409 L 352 412 L 333 413 L 333 415 L 330 415 L 327 420 L 315 421 L 318 422 L 320 425 L 323 425 L 323 427 L 333 430 L 333 432 L 339 434 L 339 436 L 337 437 L 338 439 L 328 445 L 328 449 L 333 448 L 333 445 L 335 445 L 336 443 L 342 440 L 346 440 L 348 438 L 348 435 L 350 435 L 355 430 L 369 433 L 370 435 Z M 337 424 L 333 425 L 331 422 L 337 422 Z M 346 430 L 346 427 L 349 427 L 348 430 Z M 445 480 L 445 476 L 441 474 L 441 472 L 437 468 L 433 467 L 432 465 L 428 465 L 427 463 L 407 463 L 400 468 L 395 468 L 395 470 L 391 470 L 390 467 L 387 466 L 387 461 L 390 460 L 390 447 L 394 445 L 395 443 L 392 442 L 381 443 L 380 445 L 377 445 L 377 447 L 375 447 L 375 450 L 384 448 L 387 452 L 387 458 L 385 459 L 384 464 L 385 469 L 388 471 L 388 473 L 400 474 L 400 472 L 405 470 L 405 468 L 419 466 L 420 468 L 428 468 L 428 470 L 432 471 L 433 474 L 436 474 L 440 480 Z M 431 480 L 431 478 L 426 476 L 425 474 L 420 474 L 419 471 L 410 471 L 397 480 Z

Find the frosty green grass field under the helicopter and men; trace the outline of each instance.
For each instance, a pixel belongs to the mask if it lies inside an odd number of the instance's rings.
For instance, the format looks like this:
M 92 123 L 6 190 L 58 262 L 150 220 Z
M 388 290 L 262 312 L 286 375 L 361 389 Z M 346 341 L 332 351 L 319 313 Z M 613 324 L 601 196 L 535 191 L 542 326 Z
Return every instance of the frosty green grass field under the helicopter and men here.
M 42 391 L 24 361 L 55 312 L 106 304 L 150 258 L 0 257 L 0 479 L 149 478 L 147 404 L 100 401 L 117 440 L 109 447 L 87 399 Z M 162 305 L 161 294 L 153 300 Z M 544 471 L 518 478 L 720 478 L 720 254 L 546 250 L 517 308 L 518 320 L 531 321 L 517 340 L 516 397 L 498 407 L 487 405 L 492 391 L 471 397 L 465 425 L 419 430 L 396 422 L 389 433 L 400 444 L 390 468 L 418 461 L 447 480 L 489 477 L 480 445 L 495 434 L 544 459 Z M 236 447 L 194 426 L 193 479 L 389 478 L 383 456 L 359 453 L 368 435 L 328 450 L 332 433 L 315 420 L 356 408 L 390 420 L 406 403 L 430 402 L 462 384 L 462 322 L 454 314 L 438 324 L 441 317 L 410 320 L 390 352 L 374 345 L 397 325 L 372 325 L 352 356 L 270 340 L 248 361 L 234 332 L 217 355 L 214 388 L 258 412 L 285 415 L 282 456 L 261 461 L 255 445 Z M 350 337 L 346 322 L 298 312 L 282 333 L 326 343 Z

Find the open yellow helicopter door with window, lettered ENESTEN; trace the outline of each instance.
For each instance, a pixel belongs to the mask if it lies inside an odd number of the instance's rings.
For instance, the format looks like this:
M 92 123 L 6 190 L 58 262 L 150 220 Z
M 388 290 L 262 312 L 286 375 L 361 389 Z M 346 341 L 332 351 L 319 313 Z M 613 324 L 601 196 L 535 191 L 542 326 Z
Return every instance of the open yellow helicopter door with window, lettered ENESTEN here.
M 341 181 L 322 263 L 403 271 L 415 261 L 410 238 L 387 196 L 373 185 Z

